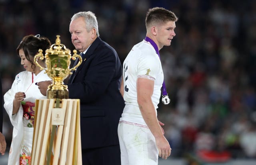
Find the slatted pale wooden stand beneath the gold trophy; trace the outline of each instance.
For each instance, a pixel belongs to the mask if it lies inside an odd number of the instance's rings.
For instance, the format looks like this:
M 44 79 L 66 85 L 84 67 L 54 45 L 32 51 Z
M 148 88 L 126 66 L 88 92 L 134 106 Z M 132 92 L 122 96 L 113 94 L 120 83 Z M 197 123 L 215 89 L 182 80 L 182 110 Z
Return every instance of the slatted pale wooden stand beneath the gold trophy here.
M 62 108 L 54 108 L 55 103 L 55 99 L 36 100 L 31 165 L 46 161 L 49 165 L 82 165 L 80 100 L 62 99 Z M 56 124 L 56 110 L 64 114 L 62 124 Z M 57 130 L 52 129 L 54 125 Z M 48 158 L 47 152 L 51 153 Z

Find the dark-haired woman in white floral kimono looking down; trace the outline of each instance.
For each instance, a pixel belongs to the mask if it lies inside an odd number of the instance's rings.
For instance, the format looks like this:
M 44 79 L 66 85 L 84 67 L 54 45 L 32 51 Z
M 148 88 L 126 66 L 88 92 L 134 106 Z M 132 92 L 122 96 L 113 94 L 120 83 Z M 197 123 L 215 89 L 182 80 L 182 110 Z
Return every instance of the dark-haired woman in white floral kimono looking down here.
M 16 49 L 21 65 L 26 71 L 16 75 L 12 88 L 4 94 L 4 108 L 13 125 L 8 165 L 31 164 L 35 101 L 46 98 L 35 83 L 51 80 L 45 71 L 41 71 L 34 63 L 34 56 L 38 49 L 42 49 L 45 54 L 45 50 L 49 48 L 48 38 L 27 35 Z M 38 63 L 46 67 L 44 61 L 38 60 Z

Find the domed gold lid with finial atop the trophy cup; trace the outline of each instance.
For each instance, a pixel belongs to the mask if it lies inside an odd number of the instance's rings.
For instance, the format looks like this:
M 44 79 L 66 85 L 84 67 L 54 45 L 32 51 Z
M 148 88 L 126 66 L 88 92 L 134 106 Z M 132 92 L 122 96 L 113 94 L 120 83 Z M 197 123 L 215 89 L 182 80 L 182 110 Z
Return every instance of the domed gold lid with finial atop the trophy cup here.
M 56 35 L 56 41 L 51 45 L 50 49 L 46 50 L 46 55 L 71 55 L 70 49 L 60 43 L 60 35 Z

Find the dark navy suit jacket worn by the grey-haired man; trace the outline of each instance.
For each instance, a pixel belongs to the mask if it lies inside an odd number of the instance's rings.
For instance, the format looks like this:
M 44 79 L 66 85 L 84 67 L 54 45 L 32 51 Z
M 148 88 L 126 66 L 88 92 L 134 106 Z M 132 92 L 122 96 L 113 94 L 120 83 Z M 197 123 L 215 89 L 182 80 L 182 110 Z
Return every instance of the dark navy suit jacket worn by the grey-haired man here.
M 121 77 L 116 51 L 97 37 L 68 82 L 69 98 L 80 99 L 82 149 L 119 144 L 117 128 L 124 109 Z

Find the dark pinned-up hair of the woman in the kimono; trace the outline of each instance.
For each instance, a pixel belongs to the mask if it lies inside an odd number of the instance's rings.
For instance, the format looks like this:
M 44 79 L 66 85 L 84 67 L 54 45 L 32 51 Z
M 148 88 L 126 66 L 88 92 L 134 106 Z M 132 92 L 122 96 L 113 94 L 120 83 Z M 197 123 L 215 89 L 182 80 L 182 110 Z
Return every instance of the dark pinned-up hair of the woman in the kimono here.
M 38 49 L 43 50 L 43 54 L 45 54 L 46 49 L 50 49 L 51 42 L 46 37 L 36 37 L 34 35 L 26 35 L 23 37 L 20 45 L 18 45 L 16 52 L 19 56 L 19 50 L 22 49 L 24 51 L 25 57 L 31 63 L 31 68 L 35 68 L 33 61 L 31 61 L 29 56 L 34 57 L 38 53 Z M 33 67 L 34 65 L 34 67 Z

